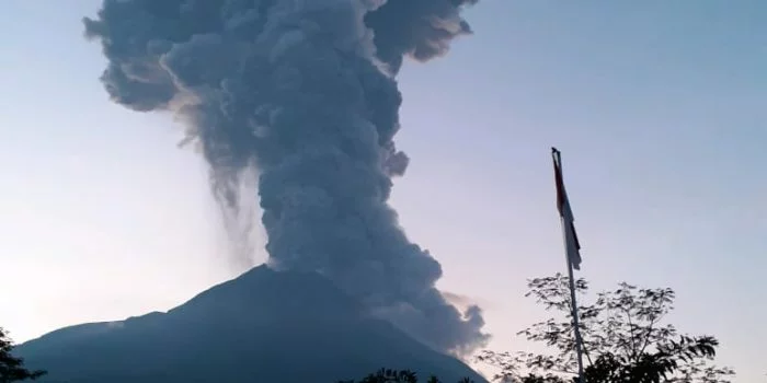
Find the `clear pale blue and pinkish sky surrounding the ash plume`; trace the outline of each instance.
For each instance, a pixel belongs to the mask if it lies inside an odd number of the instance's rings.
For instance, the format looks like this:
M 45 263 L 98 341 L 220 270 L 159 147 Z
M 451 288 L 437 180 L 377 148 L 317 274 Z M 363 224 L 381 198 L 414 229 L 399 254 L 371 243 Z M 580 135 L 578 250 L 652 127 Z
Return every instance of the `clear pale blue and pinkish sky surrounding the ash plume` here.
M 18 341 L 168 310 L 248 268 L 171 116 L 112 104 L 80 19 L 98 0 L 0 12 L 0 325 Z M 669 318 L 764 381 L 767 2 L 484 0 L 474 35 L 408 62 L 392 204 L 480 303 L 491 347 L 545 317 L 526 280 L 564 271 L 550 147 L 562 151 L 595 290 L 677 292 Z M 265 254 L 254 255 L 254 264 Z

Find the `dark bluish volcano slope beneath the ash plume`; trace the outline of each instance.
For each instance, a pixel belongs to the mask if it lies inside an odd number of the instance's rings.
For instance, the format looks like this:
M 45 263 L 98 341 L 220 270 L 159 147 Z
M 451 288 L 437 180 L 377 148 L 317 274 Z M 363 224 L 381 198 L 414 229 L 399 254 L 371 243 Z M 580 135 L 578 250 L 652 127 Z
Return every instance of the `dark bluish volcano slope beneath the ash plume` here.
M 62 328 L 16 352 L 49 372 L 42 382 L 332 383 L 381 367 L 484 382 L 319 275 L 264 266 L 168 313 Z

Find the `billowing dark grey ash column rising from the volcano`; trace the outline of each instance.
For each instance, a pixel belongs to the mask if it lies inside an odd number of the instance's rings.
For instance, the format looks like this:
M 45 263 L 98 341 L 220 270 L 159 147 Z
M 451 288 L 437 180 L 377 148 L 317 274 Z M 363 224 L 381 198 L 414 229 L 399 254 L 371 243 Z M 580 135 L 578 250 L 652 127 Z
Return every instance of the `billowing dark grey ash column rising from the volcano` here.
M 435 288 L 439 264 L 387 200 L 408 158 L 392 141 L 403 57 L 427 60 L 470 33 L 477 0 L 104 0 L 87 36 L 102 81 L 131 109 L 170 111 L 210 166 L 225 209 L 257 170 L 270 265 L 316 270 L 435 349 L 488 338 L 480 309 Z

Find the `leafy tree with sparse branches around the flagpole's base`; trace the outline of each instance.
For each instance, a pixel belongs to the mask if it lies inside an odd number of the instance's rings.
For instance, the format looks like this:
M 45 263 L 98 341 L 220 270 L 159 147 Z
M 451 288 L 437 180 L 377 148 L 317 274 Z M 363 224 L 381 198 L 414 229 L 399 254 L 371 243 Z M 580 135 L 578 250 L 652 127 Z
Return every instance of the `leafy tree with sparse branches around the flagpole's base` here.
M 561 274 L 528 281 L 531 297 L 556 317 L 523 329 L 527 340 L 545 344 L 549 353 L 482 351 L 479 361 L 500 368 L 497 381 L 563 383 L 576 381 L 569 279 Z M 588 285 L 575 281 L 579 295 Z M 734 371 L 710 364 L 719 341 L 689 336 L 664 322 L 674 310 L 672 289 L 640 289 L 622 282 L 600 292 L 592 304 L 579 301 L 588 383 L 726 383 Z M 581 301 L 583 298 L 581 299 Z M 523 373 L 523 370 L 525 373 Z

